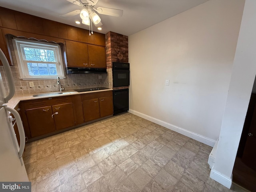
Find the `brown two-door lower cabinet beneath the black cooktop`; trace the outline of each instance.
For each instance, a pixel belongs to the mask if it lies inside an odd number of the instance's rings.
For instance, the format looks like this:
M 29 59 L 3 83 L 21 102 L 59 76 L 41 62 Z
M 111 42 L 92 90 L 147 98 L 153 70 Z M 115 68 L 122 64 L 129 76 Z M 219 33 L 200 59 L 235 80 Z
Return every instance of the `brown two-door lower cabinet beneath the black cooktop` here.
M 82 95 L 84 122 L 113 114 L 112 91 L 88 93 Z

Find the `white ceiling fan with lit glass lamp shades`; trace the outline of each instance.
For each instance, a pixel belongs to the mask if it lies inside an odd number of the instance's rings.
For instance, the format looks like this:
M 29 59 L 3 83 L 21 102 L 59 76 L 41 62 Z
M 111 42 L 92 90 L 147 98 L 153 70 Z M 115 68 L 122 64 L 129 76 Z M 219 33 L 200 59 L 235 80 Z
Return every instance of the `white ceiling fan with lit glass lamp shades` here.
M 82 2 L 82 0 L 67 0 L 67 1 L 73 4 L 76 4 L 78 6 L 82 6 L 83 9 L 74 10 L 72 12 L 66 13 L 61 16 L 67 17 L 67 16 L 75 16 L 80 14 L 82 23 L 88 25 L 89 27 L 90 27 L 90 24 L 92 24 L 92 22 L 96 27 L 102 26 L 100 16 L 98 16 L 96 12 L 98 12 L 99 14 L 110 15 L 115 17 L 121 17 L 123 15 L 123 10 L 119 10 L 119 9 L 112 9 L 112 8 L 106 8 L 106 7 L 94 8 L 98 0 L 86 0 L 85 2 Z

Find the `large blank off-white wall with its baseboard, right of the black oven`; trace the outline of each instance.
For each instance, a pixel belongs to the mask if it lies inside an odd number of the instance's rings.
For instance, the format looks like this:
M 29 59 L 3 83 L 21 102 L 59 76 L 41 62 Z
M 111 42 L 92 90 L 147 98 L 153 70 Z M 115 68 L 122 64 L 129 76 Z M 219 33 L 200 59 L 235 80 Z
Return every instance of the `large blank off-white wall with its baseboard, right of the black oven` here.
M 130 112 L 213 145 L 243 7 L 209 0 L 129 36 Z

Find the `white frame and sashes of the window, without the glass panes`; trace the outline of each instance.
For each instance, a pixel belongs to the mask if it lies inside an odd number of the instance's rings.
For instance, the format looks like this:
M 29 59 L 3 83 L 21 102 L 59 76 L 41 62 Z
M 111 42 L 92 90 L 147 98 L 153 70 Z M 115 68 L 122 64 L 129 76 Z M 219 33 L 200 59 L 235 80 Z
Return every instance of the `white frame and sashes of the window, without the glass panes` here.
M 47 43 L 47 42 L 39 42 L 39 41 L 36 42 L 36 41 L 32 41 L 32 40 L 19 39 L 19 38 L 13 38 L 12 44 L 13 44 L 13 48 L 14 48 L 17 65 L 18 65 L 18 70 L 20 73 L 20 79 L 23 79 L 23 80 L 46 80 L 46 79 L 56 79 L 57 77 L 65 78 L 60 45 Z M 26 56 L 25 56 L 24 49 L 23 49 L 24 47 L 53 50 L 56 62 L 47 62 L 47 63 L 56 64 L 57 75 L 31 76 L 28 72 L 28 65 L 27 65 L 27 63 L 31 62 L 31 61 L 26 60 Z M 37 61 L 37 63 L 45 63 L 45 62 Z

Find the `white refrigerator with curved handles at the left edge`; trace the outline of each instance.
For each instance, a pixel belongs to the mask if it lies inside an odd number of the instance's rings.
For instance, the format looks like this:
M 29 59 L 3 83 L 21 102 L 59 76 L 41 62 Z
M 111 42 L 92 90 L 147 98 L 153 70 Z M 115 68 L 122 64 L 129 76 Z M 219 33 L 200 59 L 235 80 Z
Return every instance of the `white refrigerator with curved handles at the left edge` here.
M 0 182 L 26 182 L 28 175 L 22 159 L 25 133 L 19 113 L 6 105 L 14 96 L 15 87 L 10 66 L 1 49 L 0 60 L 4 66 L 9 89 L 7 94 L 0 73 Z M 14 117 L 10 116 L 10 113 Z M 20 134 L 20 146 L 12 126 L 14 121 Z

